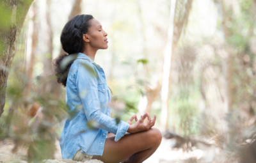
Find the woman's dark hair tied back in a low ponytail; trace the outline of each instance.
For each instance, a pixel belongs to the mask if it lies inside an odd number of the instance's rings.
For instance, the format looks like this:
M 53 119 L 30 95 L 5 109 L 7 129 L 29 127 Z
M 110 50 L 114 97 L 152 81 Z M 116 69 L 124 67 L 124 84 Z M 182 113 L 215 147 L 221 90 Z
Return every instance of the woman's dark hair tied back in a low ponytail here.
M 60 42 L 67 54 L 60 54 L 54 59 L 53 65 L 57 82 L 63 84 L 64 87 L 67 85 L 69 68 L 76 59 L 77 53 L 84 50 L 83 35 L 88 33 L 91 19 L 93 19 L 92 15 L 76 15 L 68 20 L 62 29 Z

